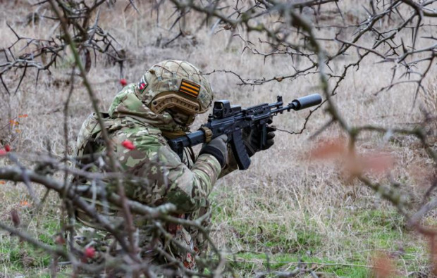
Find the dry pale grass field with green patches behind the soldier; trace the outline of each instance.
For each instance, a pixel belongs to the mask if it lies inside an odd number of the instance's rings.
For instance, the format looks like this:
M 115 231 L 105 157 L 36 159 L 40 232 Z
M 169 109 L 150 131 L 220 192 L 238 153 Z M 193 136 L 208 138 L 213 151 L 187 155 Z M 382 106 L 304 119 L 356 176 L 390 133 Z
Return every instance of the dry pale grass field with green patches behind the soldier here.
M 4 18 L 0 25 L 0 36 L 3 38 L 0 47 L 7 46 L 13 40 L 6 21 L 23 35 L 44 37 L 49 34 L 50 28 L 44 20 L 28 26 L 20 23 L 26 11 L 30 11 L 29 5 L 20 3 L 17 7 L 0 2 L 0 6 L 1 18 Z M 234 70 L 246 78 L 273 77 L 293 72 L 289 58 L 273 57 L 264 62 L 261 56 L 253 56 L 248 51 L 242 53 L 245 44 L 238 38 L 230 40 L 228 32 L 211 34 L 211 30 L 191 27 L 190 36 L 162 47 L 160 44 L 177 34 L 177 28 L 168 31 L 171 8 L 161 10 L 159 23 L 156 23 L 156 12 L 150 4 L 140 5 L 143 11 L 141 15 L 132 9 L 123 13 L 123 8 L 124 4 L 120 3 L 116 4 L 115 10 L 104 8 L 102 23 L 128 53 L 128 67 L 123 77 L 129 82 L 136 82 L 150 65 L 168 58 L 190 61 L 199 65 L 204 72 Z M 7 20 L 3 16 L 6 14 Z M 251 39 L 257 41 L 255 37 Z M 353 51 L 350 54 L 345 58 L 347 61 L 355 58 Z M 37 87 L 33 79 L 35 75 L 32 75 L 25 79 L 16 95 L 1 95 L 0 126 L 7 125 L 8 120 L 18 114 L 29 115 L 20 120 L 20 133 L 11 131 L 16 136 L 12 143 L 14 150 L 44 151 L 46 142 L 50 141 L 51 151 L 56 156 L 63 154 L 61 120 L 68 94 L 69 58 L 65 60 L 65 64 L 58 65 L 51 75 L 42 75 Z M 419 96 L 419 102 L 423 104 L 419 103 L 412 109 L 414 88 L 410 86 L 395 87 L 374 96 L 373 93 L 388 84 L 391 77 L 390 65 L 374 62 L 372 59 L 364 61 L 359 70 L 352 72 L 341 84 L 335 97 L 340 112 L 348 122 L 412 127 L 424 118 L 419 106 L 425 107 L 436 118 L 435 79 L 429 80 L 428 94 Z M 343 65 L 339 63 L 333 66 L 341 68 Z M 436 68 L 430 73 L 432 75 L 436 75 Z M 11 75 L 8 82 L 17 82 L 19 76 L 19 73 Z M 108 108 L 113 96 L 121 89 L 118 66 L 97 58 L 89 77 L 101 100 L 101 108 Z M 230 99 L 242 106 L 272 102 L 278 94 L 289 101 L 318 91 L 314 86 L 317 84 L 317 76 L 314 75 L 255 87 L 238 86 L 238 79 L 225 73 L 214 73 L 209 80 L 216 99 Z M 82 121 L 92 109 L 85 89 L 80 87 L 80 82 L 77 85 L 78 89 L 70 101 L 69 153 L 74 147 L 75 135 Z M 306 115 L 306 111 L 279 115 L 275 124 L 281 129 L 296 131 L 302 127 Z M 200 117 L 196 126 L 205 117 Z M 402 219 L 393 208 L 358 182 L 347 181 L 334 165 L 320 165 L 306 159 L 315 144 L 315 141 L 309 141 L 309 135 L 327 120 L 323 110 L 319 110 L 303 134 L 278 132 L 275 146 L 254 156 L 249 170 L 233 172 L 216 184 L 211 199 L 215 206 L 213 235 L 217 245 L 230 254 L 230 260 L 235 258 L 239 262 L 234 264 L 238 272 L 247 275 L 262 269 L 268 255 L 276 269 L 293 268 L 299 260 L 339 263 L 345 265 L 319 267 L 328 276 L 365 277 L 369 273 L 367 267 L 347 265 L 369 265 L 376 251 L 392 254 L 402 275 L 426 270 L 426 244 L 403 227 Z M 432 129 L 435 132 L 436 125 L 430 127 Z M 0 139 L 11 135 L 6 129 L 0 132 Z M 342 135 L 338 127 L 331 127 L 321 137 L 338 138 Z M 415 196 L 423 193 L 429 185 L 429 169 L 432 168 L 416 141 L 409 137 L 387 141 L 372 134 L 366 134 L 361 139 L 360 151 L 363 153 L 384 151 L 395 158 L 391 175 L 405 184 L 402 190 L 414 192 Z M 0 160 L 1 163 L 4 161 Z M 379 179 L 384 181 L 387 177 Z M 51 196 L 50 202 L 36 214 L 20 206 L 20 200 L 25 198 L 27 195 L 23 185 L 1 184 L 0 221 L 8 222 L 9 212 L 16 208 L 22 215 L 23 229 L 47 236 L 49 241 L 53 236 L 51 233 L 59 227 L 56 196 Z M 428 221 L 433 224 L 436 222 L 432 217 Z M 47 229 L 44 225 L 48 225 Z M 0 231 L 0 273 L 3 272 L 6 277 L 18 273 L 48 273 L 44 260 L 32 263 L 38 257 L 35 251 L 23 249 L 25 254 L 13 255 L 15 244 L 18 244 L 17 241 L 11 244 L 8 234 Z M 236 255 L 233 257 L 231 254 Z M 29 257 L 32 259 L 26 260 Z M 18 263 L 17 260 L 22 262 Z

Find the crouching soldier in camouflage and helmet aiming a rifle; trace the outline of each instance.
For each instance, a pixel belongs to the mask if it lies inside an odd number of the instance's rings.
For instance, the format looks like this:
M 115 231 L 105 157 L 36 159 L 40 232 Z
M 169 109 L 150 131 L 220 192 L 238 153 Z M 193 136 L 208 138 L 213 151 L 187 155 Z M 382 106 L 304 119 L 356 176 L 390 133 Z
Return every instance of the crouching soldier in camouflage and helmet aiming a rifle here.
M 205 144 L 199 155 L 192 150 L 185 151 L 183 160 L 167 144 L 167 139 L 183 136 L 199 113 L 207 112 L 213 101 L 211 86 L 202 72 L 185 61 L 162 61 L 142 75 L 137 84 L 128 84 L 120 91 L 104 115 L 105 127 L 113 142 L 116 160 L 123 172 L 147 179 L 147 182 L 123 181 L 128 198 L 147 206 L 163 203 L 176 205 L 178 217 L 195 220 L 210 213 L 208 196 L 219 177 L 237 169 L 232 151 L 228 148 L 226 135 Z M 268 149 L 273 145 L 274 128 L 269 128 Z M 259 138 L 250 130 L 243 132 L 248 153 L 252 156 L 259 149 Z M 101 129 L 94 114 L 85 120 L 78 135 L 78 156 L 104 153 L 101 144 Z M 123 147 L 123 142 L 133 146 Z M 135 148 L 135 149 L 134 149 Z M 83 165 L 84 161 L 82 161 Z M 102 164 L 100 160 L 100 164 Z M 94 166 L 91 171 L 102 171 Z M 75 179 L 87 184 L 91 181 Z M 116 191 L 113 183 L 98 184 L 106 191 Z M 88 200 L 93 202 L 92 200 Z M 94 201 L 102 214 L 120 227 L 125 224 L 119 208 L 113 208 L 103 201 Z M 113 238 L 99 227 L 85 213 L 78 210 L 77 235 L 73 239 L 78 248 L 94 248 L 94 261 L 104 260 L 106 255 L 116 253 Z M 202 225 L 209 225 L 210 217 L 205 217 Z M 194 258 L 188 250 L 197 254 L 207 249 L 202 233 L 192 227 L 167 225 L 167 232 L 174 241 L 151 242 L 153 229 L 150 223 L 135 219 L 138 229 L 140 255 L 152 263 L 168 263 L 168 259 L 156 252 L 156 246 L 165 248 L 168 254 L 183 262 L 185 267 L 196 269 Z M 175 244 L 178 241 L 178 244 Z M 183 247 L 181 247 L 183 246 Z

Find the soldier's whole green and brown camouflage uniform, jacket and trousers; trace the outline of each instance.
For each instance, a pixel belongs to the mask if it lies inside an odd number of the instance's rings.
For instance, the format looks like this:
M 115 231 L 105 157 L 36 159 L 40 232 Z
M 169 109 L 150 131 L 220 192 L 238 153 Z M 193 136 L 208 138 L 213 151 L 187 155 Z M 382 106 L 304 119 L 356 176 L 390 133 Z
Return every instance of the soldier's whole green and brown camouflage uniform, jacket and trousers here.
M 209 154 L 198 156 L 190 161 L 184 156 L 183 161 L 171 150 L 163 136 L 163 131 L 186 132 L 173 121 L 168 113 L 156 114 L 144 104 L 144 93 L 139 93 L 137 84 L 129 84 L 120 91 L 109 109 L 109 115 L 104 115 L 104 125 L 109 131 L 113 143 L 113 151 L 118 164 L 123 171 L 135 177 L 142 178 L 142 182 L 123 180 L 125 194 L 128 198 L 140 201 L 147 206 L 159 206 L 163 203 L 173 203 L 177 208 L 177 215 L 189 220 L 195 220 L 204 214 L 210 215 L 210 206 L 207 200 L 214 184 L 221 174 L 219 161 Z M 104 144 L 99 143 L 101 128 L 97 123 L 97 116 L 90 115 L 83 123 L 78 134 L 78 156 L 90 153 L 104 153 Z M 131 141 L 135 149 L 126 149 L 122 146 L 125 140 Z M 100 139 L 101 141 L 101 139 Z M 187 165 L 190 165 L 188 167 Z M 226 172 L 230 172 L 228 165 Z M 90 171 L 104 171 L 94 165 Z M 76 181 L 78 182 L 78 181 Z M 80 181 L 82 184 L 91 184 L 90 181 Z M 104 184 L 107 191 L 116 191 L 113 182 Z M 92 200 L 89 200 L 92 202 Z M 117 208 L 100 203 L 94 205 L 102 214 L 109 217 L 119 227 L 125 227 L 123 215 Z M 193 256 L 188 251 L 197 254 L 207 249 L 204 236 L 192 227 L 168 227 L 173 239 L 162 236 L 159 242 L 152 244 L 154 226 L 139 215 L 134 215 L 137 227 L 138 245 L 143 258 L 149 258 L 152 263 L 166 263 L 154 251 L 153 246 L 163 246 L 169 254 L 182 261 L 185 267 L 196 269 Z M 209 226 L 210 218 L 206 217 L 202 225 Z M 92 222 L 87 215 L 78 212 L 76 235 L 73 239 L 78 250 L 92 246 L 97 251 L 93 261 L 102 261 L 106 255 L 116 254 L 119 246 L 114 246 L 113 237 L 101 227 Z M 156 230 L 156 228 L 155 228 Z M 181 248 L 180 246 L 185 246 Z M 90 260 L 90 259 L 88 259 Z

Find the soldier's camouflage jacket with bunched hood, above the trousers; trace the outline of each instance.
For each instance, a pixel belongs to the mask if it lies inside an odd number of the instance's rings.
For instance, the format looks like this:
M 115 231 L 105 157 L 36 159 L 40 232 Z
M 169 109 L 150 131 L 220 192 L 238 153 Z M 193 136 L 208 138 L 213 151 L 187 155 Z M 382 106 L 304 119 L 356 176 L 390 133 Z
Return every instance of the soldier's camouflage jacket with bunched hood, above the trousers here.
M 149 206 L 173 203 L 178 213 L 189 213 L 204 206 L 221 174 L 219 161 L 209 154 L 197 157 L 190 167 L 187 166 L 190 158 L 184 157 L 181 161 L 168 146 L 164 134 L 183 134 L 187 130 L 173 122 L 170 114 L 156 114 L 145 106 L 135 84 L 126 86 L 116 95 L 104 122 L 123 172 L 145 180 L 142 184 L 124 184 L 129 198 Z M 103 144 L 95 143 L 100 134 L 101 129 L 92 114 L 80 129 L 78 156 L 105 151 Z M 135 149 L 123 147 L 121 143 L 125 140 L 133 142 Z M 231 153 L 230 157 L 228 161 L 232 163 L 226 165 L 223 174 L 236 169 Z

